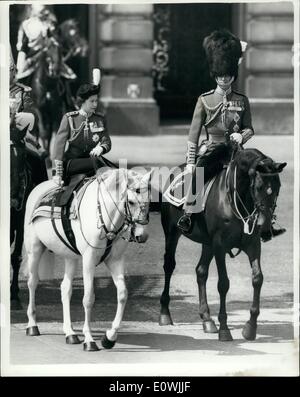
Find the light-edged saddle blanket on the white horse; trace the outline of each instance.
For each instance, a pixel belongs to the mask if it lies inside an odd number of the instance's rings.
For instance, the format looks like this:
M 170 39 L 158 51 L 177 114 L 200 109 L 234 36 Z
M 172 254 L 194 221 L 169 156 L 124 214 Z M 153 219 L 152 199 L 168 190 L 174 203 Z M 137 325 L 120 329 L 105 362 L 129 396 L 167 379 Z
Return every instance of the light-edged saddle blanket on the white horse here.
M 89 186 L 89 184 L 94 180 L 95 177 L 88 178 L 85 181 L 84 185 L 79 186 L 77 190 L 75 189 L 77 200 L 72 200 L 71 202 L 69 217 L 68 217 L 69 219 L 77 218 L 77 208 L 82 200 L 84 192 L 86 191 L 86 188 Z M 37 203 L 31 217 L 31 222 L 39 216 L 45 218 L 53 217 L 54 219 L 61 219 L 63 207 L 58 207 L 54 205 L 52 208 L 53 198 L 57 197 L 57 195 L 59 195 L 60 193 L 62 193 L 62 190 L 59 187 L 48 191 Z

